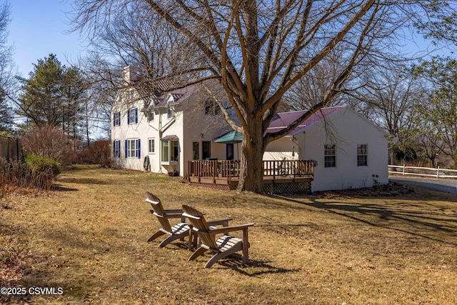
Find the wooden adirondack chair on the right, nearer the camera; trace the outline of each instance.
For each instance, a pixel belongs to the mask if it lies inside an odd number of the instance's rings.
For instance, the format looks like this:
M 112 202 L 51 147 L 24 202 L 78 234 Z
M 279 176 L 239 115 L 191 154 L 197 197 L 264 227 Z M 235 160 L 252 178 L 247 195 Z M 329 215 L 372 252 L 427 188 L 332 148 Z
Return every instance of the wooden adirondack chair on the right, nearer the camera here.
M 214 252 L 214 256 L 206 263 L 205 268 L 211 266 L 226 256 L 233 254 L 237 251 L 243 251 L 243 264 L 248 263 L 248 227 L 254 224 L 240 224 L 237 226 L 223 226 L 216 228 L 210 226 L 211 221 L 206 221 L 204 214 L 194 209 L 192 206 L 183 205 L 184 214 L 189 221 L 196 234 L 199 236 L 201 244 L 196 251 L 189 257 L 189 261 L 196 259 L 204 254 L 206 251 Z M 228 235 L 231 231 L 243 231 L 243 239 Z M 219 238 L 216 235 L 224 234 Z

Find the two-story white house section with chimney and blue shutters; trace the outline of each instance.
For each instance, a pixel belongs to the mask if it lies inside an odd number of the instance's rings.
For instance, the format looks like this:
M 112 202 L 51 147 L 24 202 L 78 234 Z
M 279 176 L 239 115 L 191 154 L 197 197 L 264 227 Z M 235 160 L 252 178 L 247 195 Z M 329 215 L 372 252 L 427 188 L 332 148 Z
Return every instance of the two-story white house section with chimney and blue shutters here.
M 135 82 L 129 66 L 123 76 L 126 83 Z M 215 100 L 224 101 L 224 95 L 215 94 L 214 86 L 207 82 L 149 96 L 134 86 L 119 91 L 111 110 L 114 165 L 183 176 L 189 160 L 236 159 L 233 144 L 213 141 L 231 131 Z

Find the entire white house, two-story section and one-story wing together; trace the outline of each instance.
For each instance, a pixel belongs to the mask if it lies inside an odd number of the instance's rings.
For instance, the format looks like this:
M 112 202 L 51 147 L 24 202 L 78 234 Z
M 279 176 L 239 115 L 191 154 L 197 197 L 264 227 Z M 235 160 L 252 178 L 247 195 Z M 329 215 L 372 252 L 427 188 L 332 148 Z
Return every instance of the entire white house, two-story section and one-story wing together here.
M 124 81 L 132 83 L 130 67 Z M 231 131 L 218 109 L 224 91 L 215 82 L 142 96 L 128 86 L 112 109 L 115 166 L 186 176 L 189 161 L 237 160 L 240 144 L 216 142 Z M 212 94 L 209 94 L 211 88 Z M 282 129 L 303 111 L 277 114 L 267 132 Z M 312 191 L 388 183 L 386 133 L 346 106 L 321 109 L 288 136 L 271 142 L 264 160 L 314 160 Z

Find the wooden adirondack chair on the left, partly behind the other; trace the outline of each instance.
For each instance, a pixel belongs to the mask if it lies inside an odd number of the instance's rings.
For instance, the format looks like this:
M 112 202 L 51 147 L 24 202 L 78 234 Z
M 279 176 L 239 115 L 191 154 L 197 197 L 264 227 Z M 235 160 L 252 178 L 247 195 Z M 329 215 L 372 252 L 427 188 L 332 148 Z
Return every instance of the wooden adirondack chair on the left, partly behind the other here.
M 146 202 L 149 202 L 152 206 L 151 214 L 157 217 L 159 220 L 159 224 L 161 228 L 156 233 L 152 234 L 148 241 L 154 241 L 154 239 L 162 236 L 164 234 L 168 234 L 169 237 L 164 239 L 159 244 L 159 247 L 164 247 L 167 244 L 171 243 L 171 241 L 175 241 L 176 239 L 184 240 L 184 237 L 189 236 L 189 242 L 187 244 L 187 248 L 191 251 L 191 242 L 192 242 L 192 234 L 191 228 L 189 224 L 186 224 L 185 220 L 186 217 L 183 216 L 182 209 L 164 209 L 160 199 L 152 194 L 150 191 L 146 191 Z M 181 222 L 171 226 L 169 219 L 181 219 Z

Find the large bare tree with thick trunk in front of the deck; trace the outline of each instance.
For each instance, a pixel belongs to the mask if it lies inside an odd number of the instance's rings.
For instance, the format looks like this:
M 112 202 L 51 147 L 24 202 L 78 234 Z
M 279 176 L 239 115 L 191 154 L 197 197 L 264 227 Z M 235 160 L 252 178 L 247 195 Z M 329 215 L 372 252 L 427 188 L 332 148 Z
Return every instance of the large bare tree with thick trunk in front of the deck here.
M 392 37 L 423 1 L 384 0 L 116 0 L 76 1 L 76 27 L 94 34 L 131 5 L 147 4 L 198 49 L 179 74 L 204 71 L 224 87 L 243 132 L 239 190 L 262 191 L 262 156 L 268 143 L 327 106 L 373 46 Z M 409 15 L 408 15 L 409 16 Z M 156 28 L 157 29 L 157 28 Z M 383 51 L 388 51 L 384 44 Z M 319 101 L 281 131 L 265 134 L 283 96 L 332 51 L 343 51 L 341 69 Z M 382 54 L 379 54 L 382 56 Z M 196 58 L 191 58 L 196 56 Z M 175 72 L 176 74 L 176 72 Z M 202 74 L 200 74 L 201 76 Z

